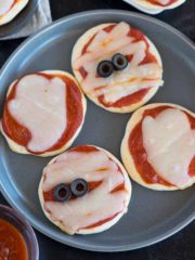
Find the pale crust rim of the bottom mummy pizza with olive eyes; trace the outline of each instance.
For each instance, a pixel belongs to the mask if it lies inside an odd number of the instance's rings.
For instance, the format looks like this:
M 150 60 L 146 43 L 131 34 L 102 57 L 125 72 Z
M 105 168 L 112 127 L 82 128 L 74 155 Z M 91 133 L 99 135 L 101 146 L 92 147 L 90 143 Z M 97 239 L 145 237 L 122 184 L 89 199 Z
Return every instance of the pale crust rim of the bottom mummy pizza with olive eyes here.
M 90 145 L 88 145 L 90 146 Z M 126 185 L 126 190 L 128 191 L 127 193 L 127 198 L 126 198 L 126 202 L 125 202 L 125 206 L 123 206 L 123 210 L 118 213 L 114 219 L 112 219 L 110 221 L 102 224 L 101 226 L 95 226 L 95 227 L 91 227 L 91 229 L 82 229 L 82 230 L 79 230 L 78 232 L 76 232 L 76 234 L 80 234 L 80 235 L 88 235 L 88 234 L 94 234 L 94 233 L 100 233 L 100 232 L 103 232 L 109 227 L 112 227 L 114 224 L 116 224 L 119 219 L 128 211 L 128 205 L 129 205 L 129 202 L 130 202 L 130 198 L 131 198 L 131 182 L 130 182 L 130 179 L 128 177 L 128 173 L 126 171 L 126 169 L 123 168 L 123 166 L 121 165 L 121 162 L 113 155 L 110 154 L 108 151 L 104 150 L 104 148 L 101 148 L 101 147 L 98 147 L 95 145 L 92 145 L 93 147 L 96 147 L 98 150 L 101 150 L 103 152 L 105 152 L 109 158 L 112 158 L 121 169 L 122 173 L 123 173 L 123 178 L 125 178 L 125 185 Z M 56 159 L 53 158 L 49 165 L 53 164 L 53 161 Z M 43 192 L 42 192 L 42 183 L 43 183 L 43 176 L 41 177 L 41 180 L 40 180 L 40 183 L 39 183 L 39 188 L 38 188 L 38 196 L 39 196 L 39 200 L 40 200 L 40 205 L 41 205 L 41 208 L 46 214 L 46 217 L 56 226 L 58 226 L 63 232 L 67 233 L 67 234 L 70 234 L 73 235 L 72 233 L 69 233 L 69 231 L 60 222 L 60 221 L 53 221 L 49 214 L 49 212 L 44 209 L 44 199 L 43 199 Z

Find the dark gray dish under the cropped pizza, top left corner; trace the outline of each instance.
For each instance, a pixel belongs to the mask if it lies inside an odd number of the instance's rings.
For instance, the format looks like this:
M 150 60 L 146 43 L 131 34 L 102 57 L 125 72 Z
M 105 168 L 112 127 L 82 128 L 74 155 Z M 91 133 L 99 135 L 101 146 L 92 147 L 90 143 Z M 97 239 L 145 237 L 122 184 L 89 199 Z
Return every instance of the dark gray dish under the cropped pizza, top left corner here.
M 10 23 L 0 26 L 0 38 L 8 37 L 22 29 L 35 13 L 39 0 L 30 0 L 24 10 Z

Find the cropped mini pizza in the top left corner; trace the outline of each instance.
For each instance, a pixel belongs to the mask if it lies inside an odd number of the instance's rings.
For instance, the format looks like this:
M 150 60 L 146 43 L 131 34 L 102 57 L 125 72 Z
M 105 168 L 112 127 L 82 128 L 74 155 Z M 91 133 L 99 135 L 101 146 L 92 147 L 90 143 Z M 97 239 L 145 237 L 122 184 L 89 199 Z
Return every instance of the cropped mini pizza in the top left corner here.
M 28 3 L 29 0 L 0 1 L 0 26 L 10 23 Z

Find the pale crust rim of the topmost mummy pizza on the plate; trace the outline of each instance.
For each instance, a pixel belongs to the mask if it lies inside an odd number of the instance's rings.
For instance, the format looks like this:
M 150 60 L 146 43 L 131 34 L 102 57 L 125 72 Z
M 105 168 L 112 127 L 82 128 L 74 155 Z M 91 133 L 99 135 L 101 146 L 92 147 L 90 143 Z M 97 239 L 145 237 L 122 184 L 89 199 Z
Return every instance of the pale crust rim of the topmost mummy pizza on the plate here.
M 83 47 L 94 36 L 94 34 L 96 34 L 100 29 L 103 29 L 113 24 L 115 24 L 115 23 L 102 24 L 102 25 L 98 25 L 98 26 L 87 30 L 75 43 L 74 49 L 73 49 L 73 54 L 72 54 L 72 68 L 73 68 L 73 72 L 74 72 L 77 80 L 79 81 L 80 86 L 81 86 L 82 77 L 78 70 L 74 69 L 74 65 L 73 65 L 74 61 L 76 61 L 81 55 L 81 51 L 82 51 Z M 147 37 L 145 37 L 145 38 L 148 41 L 151 53 L 153 53 L 153 55 L 156 57 L 158 64 L 160 66 L 162 66 L 161 57 L 160 57 L 160 54 L 158 53 L 156 47 Z M 82 86 L 81 86 L 81 88 L 82 88 Z M 106 110 L 114 112 L 114 113 L 129 113 L 129 112 L 135 110 L 138 107 L 142 106 L 147 101 L 150 101 L 155 95 L 155 93 L 158 91 L 158 89 L 159 89 L 159 87 L 151 88 L 151 90 L 147 92 L 147 94 L 144 96 L 144 99 L 141 102 L 138 102 L 138 103 L 129 105 L 129 106 L 123 106 L 123 107 L 106 107 L 102 103 L 100 103 L 98 99 L 92 98 L 88 93 L 84 93 L 84 94 L 92 102 L 94 102 L 98 106 L 101 106 L 102 108 L 104 108 Z M 83 89 L 82 89 L 82 91 L 84 92 Z

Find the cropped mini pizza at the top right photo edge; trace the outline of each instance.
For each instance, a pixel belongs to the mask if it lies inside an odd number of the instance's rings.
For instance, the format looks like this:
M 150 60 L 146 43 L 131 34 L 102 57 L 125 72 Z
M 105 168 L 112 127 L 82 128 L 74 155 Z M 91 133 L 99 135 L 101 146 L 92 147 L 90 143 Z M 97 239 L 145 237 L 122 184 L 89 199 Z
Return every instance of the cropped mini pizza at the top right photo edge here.
M 142 12 L 157 14 L 164 10 L 174 9 L 186 0 L 125 0 Z

